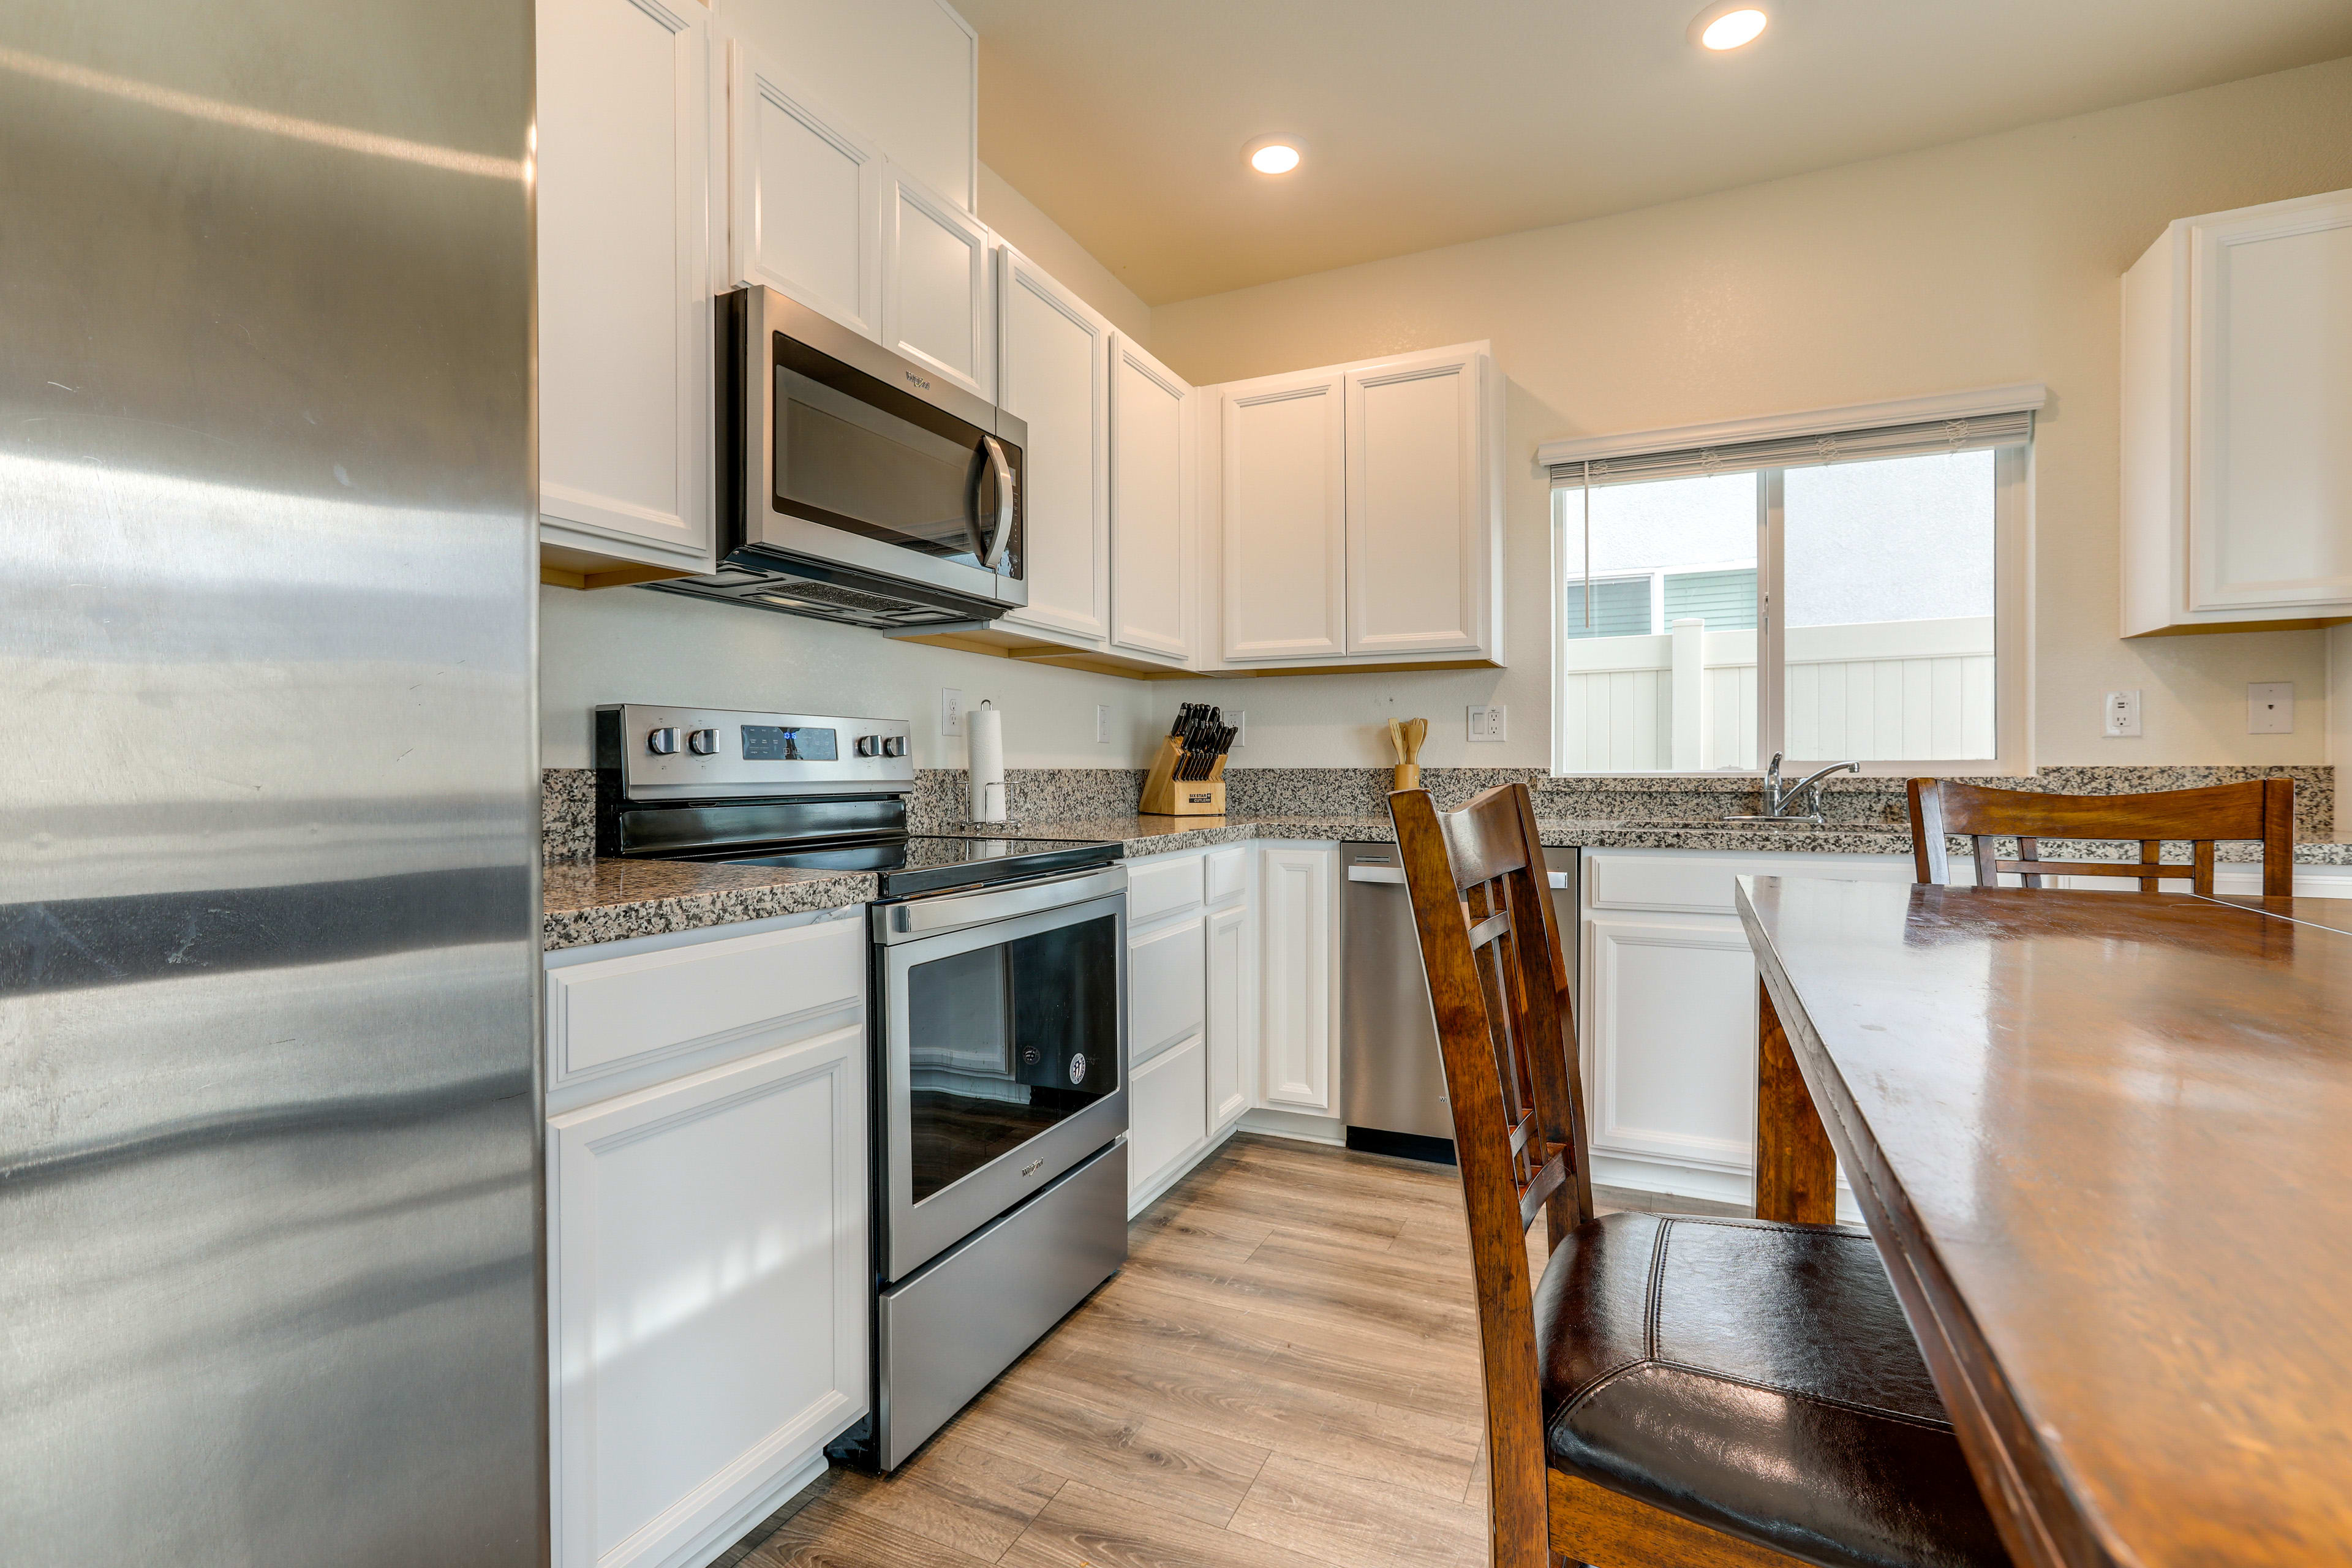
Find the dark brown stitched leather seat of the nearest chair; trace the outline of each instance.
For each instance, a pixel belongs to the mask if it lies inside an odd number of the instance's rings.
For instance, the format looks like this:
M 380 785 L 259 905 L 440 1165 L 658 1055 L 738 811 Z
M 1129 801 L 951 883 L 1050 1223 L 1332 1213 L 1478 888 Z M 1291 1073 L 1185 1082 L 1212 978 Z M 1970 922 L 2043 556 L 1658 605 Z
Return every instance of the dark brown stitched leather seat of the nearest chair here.
M 1809 1563 L 2009 1566 L 1867 1237 L 1609 1213 L 1534 1305 L 1555 1469 Z

